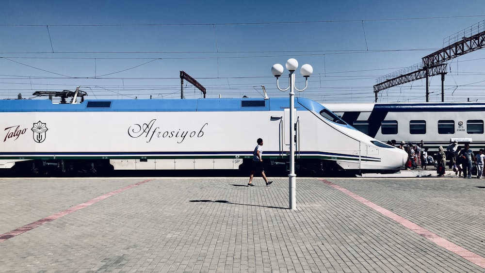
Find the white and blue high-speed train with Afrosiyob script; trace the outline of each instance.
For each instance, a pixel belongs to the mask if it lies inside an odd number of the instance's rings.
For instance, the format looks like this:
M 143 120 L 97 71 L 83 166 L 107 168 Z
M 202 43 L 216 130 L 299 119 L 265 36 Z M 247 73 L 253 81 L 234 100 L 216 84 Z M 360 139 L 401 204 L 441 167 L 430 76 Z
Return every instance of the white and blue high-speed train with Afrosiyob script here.
M 395 172 L 406 155 L 295 99 L 296 172 Z M 243 169 L 256 140 L 264 161 L 289 161 L 289 99 L 0 101 L 0 168 L 61 172 Z M 268 166 L 270 167 L 270 166 Z

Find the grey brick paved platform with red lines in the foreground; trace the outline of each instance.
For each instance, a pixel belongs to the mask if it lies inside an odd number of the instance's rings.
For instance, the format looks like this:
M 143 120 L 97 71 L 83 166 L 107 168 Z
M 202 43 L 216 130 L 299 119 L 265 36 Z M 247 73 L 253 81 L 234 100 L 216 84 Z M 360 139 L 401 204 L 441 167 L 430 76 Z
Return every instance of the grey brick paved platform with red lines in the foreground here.
M 0 272 L 485 272 L 484 179 L 247 180 L 0 178 Z

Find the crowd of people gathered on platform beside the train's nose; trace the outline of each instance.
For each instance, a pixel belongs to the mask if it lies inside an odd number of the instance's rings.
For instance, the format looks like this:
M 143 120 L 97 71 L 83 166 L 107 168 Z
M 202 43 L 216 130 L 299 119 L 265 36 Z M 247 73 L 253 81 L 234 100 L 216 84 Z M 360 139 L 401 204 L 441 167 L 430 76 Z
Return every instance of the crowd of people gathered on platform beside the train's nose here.
M 424 147 L 422 140 L 417 144 L 408 142 L 407 145 L 404 141 L 396 145 L 395 140 L 392 140 L 388 141 L 388 144 L 397 146 L 407 152 L 406 170 L 416 169 L 418 166 L 426 170 L 428 165 L 434 165 L 438 177 L 445 175 L 446 167 L 452 169 L 455 175 L 459 177 L 471 178 L 473 174 L 476 178 L 482 179 L 485 176 L 485 151 L 480 149 L 475 156 L 475 153 L 470 150 L 469 144 L 465 144 L 463 149 L 458 145 L 457 141 L 453 141 L 446 150 L 443 149 L 443 146 L 439 146 L 435 158 L 428 155 L 428 148 Z

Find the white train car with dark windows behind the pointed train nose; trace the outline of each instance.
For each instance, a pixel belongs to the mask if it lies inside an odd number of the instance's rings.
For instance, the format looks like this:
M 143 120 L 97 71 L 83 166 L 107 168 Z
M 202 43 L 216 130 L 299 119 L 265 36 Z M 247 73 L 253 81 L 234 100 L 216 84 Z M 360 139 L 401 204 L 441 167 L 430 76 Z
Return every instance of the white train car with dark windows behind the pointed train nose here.
M 324 103 L 332 112 L 382 142 L 419 143 L 431 152 L 453 141 L 485 148 L 485 103 Z

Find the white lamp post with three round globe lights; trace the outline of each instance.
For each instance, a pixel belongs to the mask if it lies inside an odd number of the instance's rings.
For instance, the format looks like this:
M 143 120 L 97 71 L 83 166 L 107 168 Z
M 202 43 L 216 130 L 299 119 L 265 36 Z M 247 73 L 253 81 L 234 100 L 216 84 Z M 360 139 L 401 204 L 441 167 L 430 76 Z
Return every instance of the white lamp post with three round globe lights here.
M 281 89 L 279 87 L 278 79 L 283 74 L 283 65 L 281 64 L 274 64 L 271 67 L 271 72 L 276 77 L 276 86 L 280 91 L 287 91 L 290 89 L 290 174 L 289 177 L 289 188 L 290 188 L 290 209 L 296 209 L 296 175 L 295 175 L 295 122 L 293 112 L 295 110 L 295 90 L 297 91 L 304 91 L 307 89 L 308 85 L 308 77 L 313 73 L 313 67 L 309 64 L 303 64 L 302 68 L 300 69 L 300 73 L 303 77 L 305 77 L 305 88 L 299 90 L 295 87 L 295 70 L 298 68 L 298 61 L 291 58 L 286 62 L 286 69 L 290 71 L 290 85 L 286 89 Z

